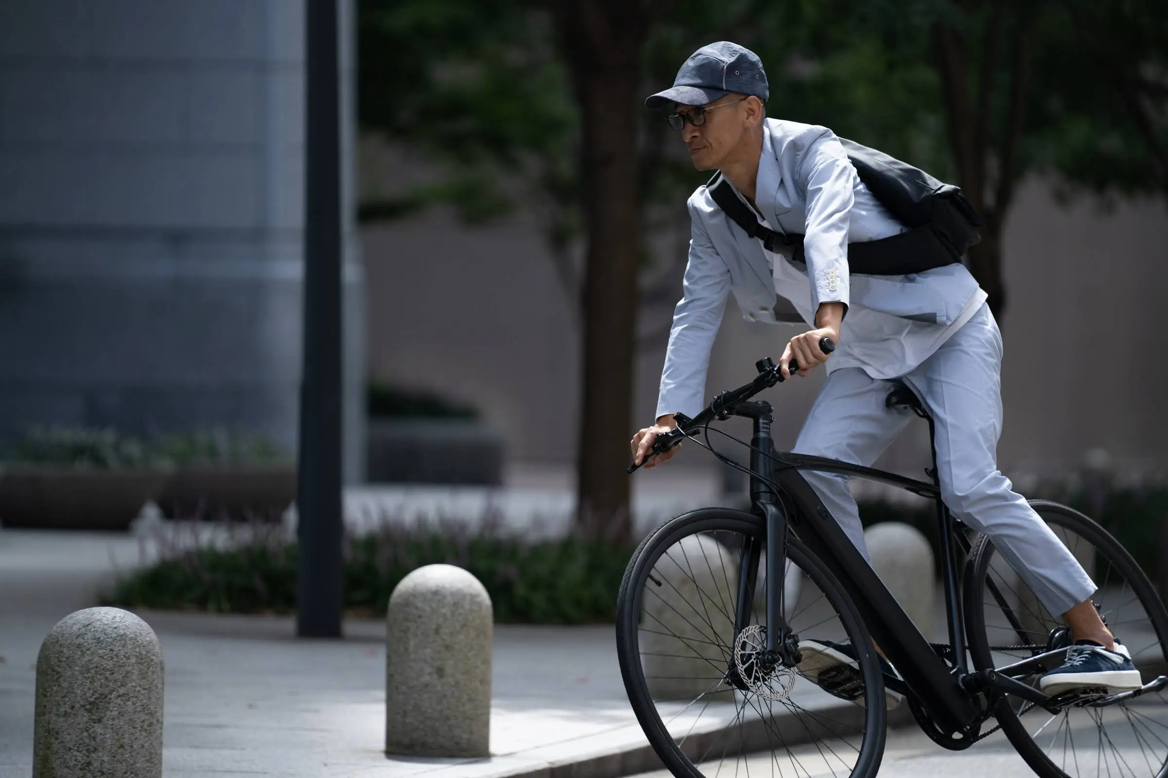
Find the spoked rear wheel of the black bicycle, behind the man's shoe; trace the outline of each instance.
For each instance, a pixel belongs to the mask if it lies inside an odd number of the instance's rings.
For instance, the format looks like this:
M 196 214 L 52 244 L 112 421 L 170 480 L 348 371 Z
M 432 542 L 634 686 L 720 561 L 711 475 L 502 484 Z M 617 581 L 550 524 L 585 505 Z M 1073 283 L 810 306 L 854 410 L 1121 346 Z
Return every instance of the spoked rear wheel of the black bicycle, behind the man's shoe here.
M 1098 524 L 1070 507 L 1045 500 L 1030 505 L 1079 560 L 1099 587 L 1092 602 L 1131 651 L 1147 684 L 1168 673 L 1168 614 L 1131 554 Z M 979 670 L 1002 667 L 1070 645 L 1058 615 L 1051 615 L 1021 577 L 995 553 L 987 537 L 974 546 L 966 582 L 969 651 Z M 1018 680 L 1037 685 L 1043 672 Z M 1017 752 L 1040 776 L 1168 776 L 1168 699 L 1148 693 L 1106 707 L 1069 706 L 1050 714 L 1007 696 L 997 721 Z

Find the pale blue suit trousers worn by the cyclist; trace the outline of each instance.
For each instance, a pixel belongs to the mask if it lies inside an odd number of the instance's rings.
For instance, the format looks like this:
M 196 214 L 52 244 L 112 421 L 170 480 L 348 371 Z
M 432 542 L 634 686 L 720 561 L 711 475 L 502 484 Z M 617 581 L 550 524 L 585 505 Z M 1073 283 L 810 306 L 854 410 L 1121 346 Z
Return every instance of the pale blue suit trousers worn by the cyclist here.
M 997 469 L 1001 360 L 1001 332 L 982 304 L 931 357 L 897 380 L 916 392 L 936 422 L 945 504 L 968 526 L 989 535 L 1040 602 L 1058 616 L 1090 597 L 1096 584 Z M 911 411 L 884 407 L 894 387 L 894 381 L 872 379 L 858 367 L 833 371 L 794 450 L 870 467 L 916 418 Z M 800 472 L 867 559 L 848 477 Z

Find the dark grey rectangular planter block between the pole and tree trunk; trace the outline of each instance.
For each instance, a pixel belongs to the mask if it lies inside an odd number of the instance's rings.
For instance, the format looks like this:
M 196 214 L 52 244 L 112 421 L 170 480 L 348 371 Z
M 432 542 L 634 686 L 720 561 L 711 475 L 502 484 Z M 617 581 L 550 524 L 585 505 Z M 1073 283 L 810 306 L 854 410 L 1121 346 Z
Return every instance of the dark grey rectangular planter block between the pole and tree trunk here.
M 371 483 L 502 483 L 503 437 L 473 419 L 370 419 Z

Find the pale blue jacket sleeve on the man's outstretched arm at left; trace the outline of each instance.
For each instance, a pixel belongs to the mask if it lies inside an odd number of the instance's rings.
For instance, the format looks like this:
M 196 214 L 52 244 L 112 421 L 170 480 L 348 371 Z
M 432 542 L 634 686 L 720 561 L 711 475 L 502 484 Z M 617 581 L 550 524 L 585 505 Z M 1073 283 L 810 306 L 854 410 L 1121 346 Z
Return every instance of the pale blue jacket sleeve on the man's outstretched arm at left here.
M 673 311 L 654 419 L 677 412 L 693 416 L 705 406 L 710 350 L 730 289 L 730 271 L 710 241 L 693 203 L 689 205 L 689 261 L 682 281 L 682 297 Z

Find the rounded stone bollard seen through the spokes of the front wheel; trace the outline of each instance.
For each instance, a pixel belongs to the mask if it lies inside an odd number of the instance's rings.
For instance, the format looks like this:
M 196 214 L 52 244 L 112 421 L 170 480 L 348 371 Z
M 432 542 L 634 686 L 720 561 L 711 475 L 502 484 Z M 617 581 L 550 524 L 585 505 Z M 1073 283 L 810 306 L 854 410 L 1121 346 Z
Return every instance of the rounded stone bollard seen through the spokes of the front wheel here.
M 653 567 L 660 587 L 646 588 L 641 603 L 641 666 L 655 700 L 732 701 L 718 693 L 734 644 L 734 608 L 738 560 L 709 535 L 687 535 Z M 728 584 L 729 582 L 729 584 Z M 698 591 L 701 589 L 701 591 Z M 652 594 L 651 594 L 652 593 Z

